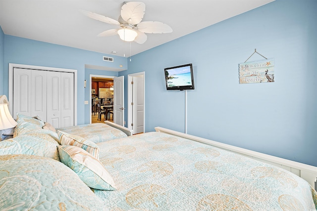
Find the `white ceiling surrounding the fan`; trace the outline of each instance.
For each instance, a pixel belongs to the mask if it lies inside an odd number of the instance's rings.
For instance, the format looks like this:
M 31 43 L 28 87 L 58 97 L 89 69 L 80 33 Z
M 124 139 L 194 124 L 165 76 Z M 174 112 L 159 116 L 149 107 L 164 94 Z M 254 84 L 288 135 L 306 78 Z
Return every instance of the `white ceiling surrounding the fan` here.
M 198 31 L 273 0 L 141 0 L 143 21 L 169 25 L 170 34 L 147 34 L 144 44 L 119 36 L 97 37 L 115 25 L 83 15 L 88 10 L 118 19 L 124 0 L 0 0 L 0 26 L 5 35 L 66 45 L 118 56 L 135 55 Z M 130 53 L 131 43 L 131 53 Z

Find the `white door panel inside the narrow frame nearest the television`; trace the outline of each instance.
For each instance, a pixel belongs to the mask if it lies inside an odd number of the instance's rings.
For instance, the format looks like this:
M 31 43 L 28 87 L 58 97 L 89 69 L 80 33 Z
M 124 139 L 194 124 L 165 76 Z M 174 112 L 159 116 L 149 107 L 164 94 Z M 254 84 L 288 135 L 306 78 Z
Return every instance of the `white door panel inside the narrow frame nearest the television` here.
M 134 76 L 132 85 L 133 134 L 144 132 L 144 75 Z

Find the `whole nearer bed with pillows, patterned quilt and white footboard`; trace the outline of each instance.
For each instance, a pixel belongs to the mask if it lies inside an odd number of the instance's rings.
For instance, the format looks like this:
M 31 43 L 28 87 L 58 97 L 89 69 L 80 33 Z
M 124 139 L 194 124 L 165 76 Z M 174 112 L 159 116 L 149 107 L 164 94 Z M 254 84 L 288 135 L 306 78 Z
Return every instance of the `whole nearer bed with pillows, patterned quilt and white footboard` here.
M 161 127 L 98 143 L 38 121 L 18 127 L 21 149 L 0 153 L 0 210 L 317 208 L 317 167 Z

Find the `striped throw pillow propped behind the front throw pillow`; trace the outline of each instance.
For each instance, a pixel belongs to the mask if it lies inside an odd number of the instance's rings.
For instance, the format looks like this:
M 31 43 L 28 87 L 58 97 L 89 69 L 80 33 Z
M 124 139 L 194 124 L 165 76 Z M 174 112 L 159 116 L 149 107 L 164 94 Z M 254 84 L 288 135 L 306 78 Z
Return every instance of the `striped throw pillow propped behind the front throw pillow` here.
M 80 147 L 90 154 L 92 154 L 95 158 L 99 159 L 99 146 L 92 141 L 86 140 L 78 135 L 68 134 L 67 132 L 63 132 L 57 130 L 58 139 L 60 145 L 72 145 L 76 147 Z

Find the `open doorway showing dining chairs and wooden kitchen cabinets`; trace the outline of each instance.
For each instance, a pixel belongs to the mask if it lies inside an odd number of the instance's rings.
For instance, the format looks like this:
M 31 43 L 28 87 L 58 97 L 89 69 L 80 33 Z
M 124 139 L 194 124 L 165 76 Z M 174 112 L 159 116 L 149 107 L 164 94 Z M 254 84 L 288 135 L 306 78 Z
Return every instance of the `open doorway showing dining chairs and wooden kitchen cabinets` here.
M 113 78 L 90 75 L 90 123 L 113 121 Z

